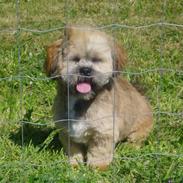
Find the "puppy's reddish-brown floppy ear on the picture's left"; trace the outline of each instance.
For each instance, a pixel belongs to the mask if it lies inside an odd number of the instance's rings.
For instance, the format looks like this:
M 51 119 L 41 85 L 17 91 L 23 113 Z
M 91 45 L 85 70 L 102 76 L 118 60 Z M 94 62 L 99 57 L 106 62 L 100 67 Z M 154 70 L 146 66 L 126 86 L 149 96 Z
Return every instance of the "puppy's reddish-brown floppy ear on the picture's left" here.
M 56 68 L 58 65 L 58 56 L 59 51 L 61 50 L 62 40 L 59 39 L 52 43 L 51 45 L 47 46 L 47 57 L 44 64 L 45 72 L 47 76 L 53 76 L 56 72 Z

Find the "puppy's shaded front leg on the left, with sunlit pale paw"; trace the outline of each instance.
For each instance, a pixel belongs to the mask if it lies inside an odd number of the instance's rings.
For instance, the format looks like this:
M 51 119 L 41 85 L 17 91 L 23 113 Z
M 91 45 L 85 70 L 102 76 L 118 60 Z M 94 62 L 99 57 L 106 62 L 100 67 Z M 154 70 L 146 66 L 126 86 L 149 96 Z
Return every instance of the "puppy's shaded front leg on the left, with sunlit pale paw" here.
M 66 134 L 60 135 L 60 141 L 63 145 L 63 149 L 69 156 L 69 161 L 71 165 L 77 167 L 79 163 L 84 162 L 84 149 L 82 145 L 77 144 L 72 140 L 68 140 L 68 135 Z

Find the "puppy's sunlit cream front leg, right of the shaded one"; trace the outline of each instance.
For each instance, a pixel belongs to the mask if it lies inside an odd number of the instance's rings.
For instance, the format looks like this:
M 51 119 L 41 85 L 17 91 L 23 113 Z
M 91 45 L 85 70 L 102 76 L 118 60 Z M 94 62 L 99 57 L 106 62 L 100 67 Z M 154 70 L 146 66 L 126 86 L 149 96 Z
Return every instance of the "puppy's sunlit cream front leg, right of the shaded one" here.
M 87 164 L 100 170 L 107 169 L 113 159 L 113 138 L 111 136 L 97 137 L 89 143 Z

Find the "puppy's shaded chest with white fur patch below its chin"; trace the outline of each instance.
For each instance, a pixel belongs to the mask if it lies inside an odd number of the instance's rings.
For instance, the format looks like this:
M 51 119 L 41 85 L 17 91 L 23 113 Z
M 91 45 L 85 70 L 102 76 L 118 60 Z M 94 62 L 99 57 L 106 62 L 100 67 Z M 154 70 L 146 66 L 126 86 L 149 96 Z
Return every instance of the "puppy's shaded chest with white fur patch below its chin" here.
M 89 105 L 88 102 L 78 100 L 75 97 L 70 98 L 69 117 L 71 120 L 69 135 L 75 142 L 87 143 L 92 134 L 92 127 L 85 116 Z

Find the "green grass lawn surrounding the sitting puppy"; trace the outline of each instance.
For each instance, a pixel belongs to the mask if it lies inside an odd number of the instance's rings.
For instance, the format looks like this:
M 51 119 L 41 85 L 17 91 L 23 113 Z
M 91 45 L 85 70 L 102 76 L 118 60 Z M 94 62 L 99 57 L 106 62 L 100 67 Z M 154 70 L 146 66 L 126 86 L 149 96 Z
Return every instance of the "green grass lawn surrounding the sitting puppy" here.
M 64 7 L 67 7 L 66 11 Z M 16 4 L 0 0 L 0 29 L 17 26 Z M 20 1 L 20 27 L 50 29 L 74 24 L 143 25 L 164 20 L 183 24 L 182 1 L 61 0 Z M 154 68 L 183 69 L 183 29 L 166 26 L 146 29 L 108 28 L 129 57 L 125 71 Z M 100 172 L 67 163 L 57 136 L 53 135 L 51 107 L 55 83 L 45 78 L 44 47 L 63 35 L 21 31 L 0 33 L 0 181 L 1 182 L 172 182 L 183 181 L 183 75 L 178 72 L 125 74 L 149 99 L 154 129 L 140 149 L 122 143 L 109 169 Z M 21 63 L 18 64 L 18 47 Z M 22 76 L 21 80 L 14 76 Z M 7 79 L 3 79 L 6 78 Z M 21 107 L 22 106 L 22 107 Z M 29 121 L 23 131 L 20 121 Z M 47 124 L 39 126 L 36 124 Z M 53 137 L 54 136 L 54 137 Z M 46 140 L 47 139 L 47 140 Z M 23 146 L 22 146 L 23 145 Z

